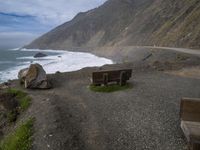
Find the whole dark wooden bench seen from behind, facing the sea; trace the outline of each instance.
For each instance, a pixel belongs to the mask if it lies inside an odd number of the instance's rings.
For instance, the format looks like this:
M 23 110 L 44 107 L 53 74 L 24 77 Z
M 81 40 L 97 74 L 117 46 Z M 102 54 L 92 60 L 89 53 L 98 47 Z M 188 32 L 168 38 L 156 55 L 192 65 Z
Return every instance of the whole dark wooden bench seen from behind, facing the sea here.
M 110 82 L 116 82 L 120 86 L 126 85 L 127 80 L 132 76 L 132 69 L 98 71 L 92 73 L 93 85 L 107 85 Z

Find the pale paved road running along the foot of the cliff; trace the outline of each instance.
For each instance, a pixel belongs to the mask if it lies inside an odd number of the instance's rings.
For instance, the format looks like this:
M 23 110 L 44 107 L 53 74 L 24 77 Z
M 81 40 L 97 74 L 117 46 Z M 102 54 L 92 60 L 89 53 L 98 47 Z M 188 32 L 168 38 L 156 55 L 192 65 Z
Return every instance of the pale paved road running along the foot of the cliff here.
M 177 52 L 183 52 L 187 54 L 197 55 L 200 57 L 200 50 L 194 50 L 189 48 L 175 48 L 175 47 L 154 47 L 154 46 L 143 46 L 145 48 L 163 49 L 163 50 L 173 50 Z

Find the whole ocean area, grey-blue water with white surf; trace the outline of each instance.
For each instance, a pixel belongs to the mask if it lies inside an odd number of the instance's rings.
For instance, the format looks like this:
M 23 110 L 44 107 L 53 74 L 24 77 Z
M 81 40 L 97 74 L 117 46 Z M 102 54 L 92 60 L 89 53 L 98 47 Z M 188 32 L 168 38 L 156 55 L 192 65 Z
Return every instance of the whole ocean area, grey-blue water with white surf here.
M 34 58 L 38 52 L 47 57 Z M 0 83 L 17 79 L 18 72 L 30 64 L 39 63 L 50 73 L 70 72 L 84 67 L 112 64 L 109 59 L 97 57 L 90 53 L 70 52 L 61 50 L 12 49 L 0 50 Z

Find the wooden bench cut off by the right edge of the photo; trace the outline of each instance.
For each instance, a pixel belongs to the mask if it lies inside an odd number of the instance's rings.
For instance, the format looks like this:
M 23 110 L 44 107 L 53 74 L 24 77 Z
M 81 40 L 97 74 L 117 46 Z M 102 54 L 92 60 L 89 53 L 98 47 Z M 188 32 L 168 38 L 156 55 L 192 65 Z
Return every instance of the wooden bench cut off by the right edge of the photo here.
M 182 98 L 180 117 L 189 149 L 200 150 L 200 98 Z

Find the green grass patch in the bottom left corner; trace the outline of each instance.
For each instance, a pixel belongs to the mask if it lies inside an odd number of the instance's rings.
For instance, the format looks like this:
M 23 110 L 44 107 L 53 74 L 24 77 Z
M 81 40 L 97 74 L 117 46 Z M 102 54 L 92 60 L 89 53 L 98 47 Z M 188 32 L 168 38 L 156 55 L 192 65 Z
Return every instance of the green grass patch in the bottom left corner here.
M 33 118 L 22 123 L 15 132 L 0 143 L 0 150 L 30 150 L 32 145 Z

